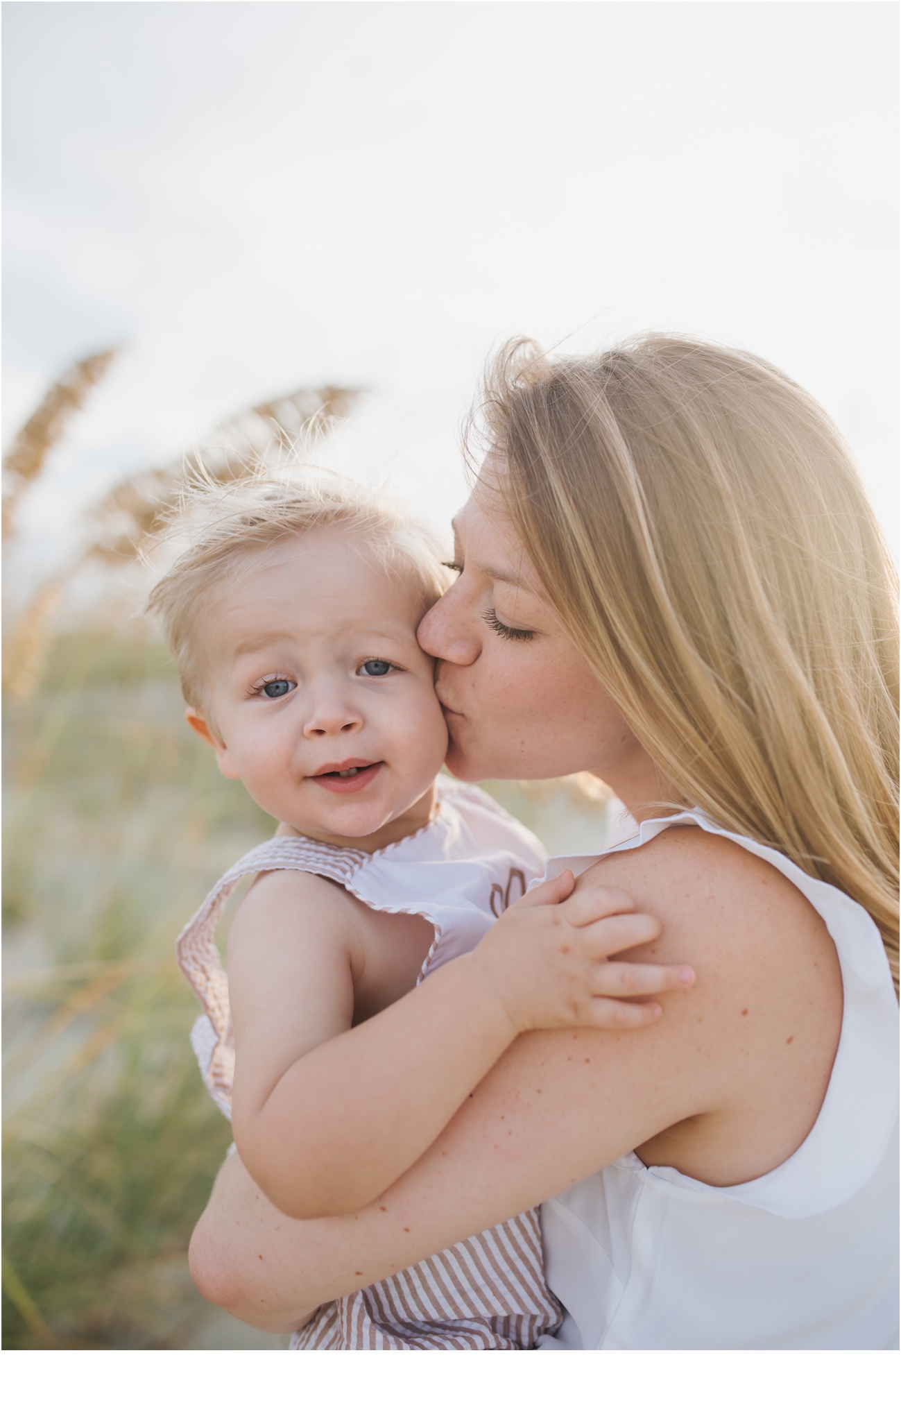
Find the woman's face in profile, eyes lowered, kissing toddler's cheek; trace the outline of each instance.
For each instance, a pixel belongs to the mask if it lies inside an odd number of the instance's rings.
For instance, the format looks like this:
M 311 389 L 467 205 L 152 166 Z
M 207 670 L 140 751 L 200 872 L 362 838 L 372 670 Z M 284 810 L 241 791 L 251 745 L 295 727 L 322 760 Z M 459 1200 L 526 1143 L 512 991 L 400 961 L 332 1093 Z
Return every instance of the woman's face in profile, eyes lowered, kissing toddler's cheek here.
M 439 658 L 448 767 L 462 780 L 591 770 L 625 803 L 651 799 L 651 760 L 547 601 L 493 487 L 499 476 L 486 463 L 455 519 L 459 577 L 418 631 Z

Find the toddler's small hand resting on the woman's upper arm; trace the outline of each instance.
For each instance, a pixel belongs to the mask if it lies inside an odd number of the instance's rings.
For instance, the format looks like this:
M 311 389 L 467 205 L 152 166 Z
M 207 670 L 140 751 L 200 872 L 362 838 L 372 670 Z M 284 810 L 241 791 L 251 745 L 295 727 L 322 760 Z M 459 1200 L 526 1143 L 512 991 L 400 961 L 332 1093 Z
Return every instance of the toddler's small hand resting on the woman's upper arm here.
M 608 962 L 617 952 L 652 942 L 661 924 L 648 912 L 635 912 L 634 901 L 620 888 L 574 894 L 574 887 L 566 868 L 527 892 L 486 932 L 472 955 L 473 965 L 517 1032 L 649 1026 L 662 1007 L 644 999 L 692 986 L 694 971 Z

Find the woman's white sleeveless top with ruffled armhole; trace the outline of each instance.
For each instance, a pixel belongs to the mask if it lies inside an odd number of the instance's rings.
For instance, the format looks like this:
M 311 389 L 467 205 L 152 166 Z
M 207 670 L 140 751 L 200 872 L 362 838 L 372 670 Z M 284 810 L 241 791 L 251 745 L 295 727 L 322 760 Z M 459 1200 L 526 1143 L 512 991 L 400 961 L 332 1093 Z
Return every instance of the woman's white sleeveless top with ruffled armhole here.
M 645 820 L 647 844 L 696 824 L 779 868 L 836 944 L 841 1036 L 813 1130 L 776 1169 L 715 1188 L 624 1155 L 541 1205 L 563 1326 L 539 1347 L 873 1350 L 898 1346 L 898 1006 L 878 929 L 838 888 L 701 811 Z M 608 854 L 553 858 L 584 872 Z

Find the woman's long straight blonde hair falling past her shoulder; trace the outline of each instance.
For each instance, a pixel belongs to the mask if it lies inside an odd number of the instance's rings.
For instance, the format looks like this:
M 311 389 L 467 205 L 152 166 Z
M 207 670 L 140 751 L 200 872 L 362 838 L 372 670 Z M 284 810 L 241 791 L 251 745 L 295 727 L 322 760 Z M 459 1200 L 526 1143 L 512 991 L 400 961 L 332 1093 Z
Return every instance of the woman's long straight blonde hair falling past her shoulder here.
M 512 341 L 480 412 L 557 612 L 661 779 L 875 919 L 898 980 L 894 570 L 823 409 L 745 351 Z

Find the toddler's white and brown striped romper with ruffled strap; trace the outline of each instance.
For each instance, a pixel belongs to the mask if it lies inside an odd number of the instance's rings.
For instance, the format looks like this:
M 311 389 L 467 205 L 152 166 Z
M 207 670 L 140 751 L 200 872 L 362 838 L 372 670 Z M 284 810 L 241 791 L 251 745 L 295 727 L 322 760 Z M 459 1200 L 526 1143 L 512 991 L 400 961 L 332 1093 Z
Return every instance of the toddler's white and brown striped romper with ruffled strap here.
M 240 878 L 293 868 L 331 878 L 378 911 L 426 918 L 433 938 L 422 982 L 470 952 L 543 867 L 533 834 L 482 790 L 446 776 L 438 779 L 432 821 L 374 854 L 300 837 L 252 850 L 219 880 L 178 939 L 179 965 L 203 1006 L 190 1039 L 216 1104 L 230 1117 L 234 1044 L 213 931 Z M 294 1333 L 291 1349 L 512 1351 L 534 1347 L 561 1316 L 544 1282 L 539 1212 L 530 1209 L 394 1277 L 324 1303 Z

